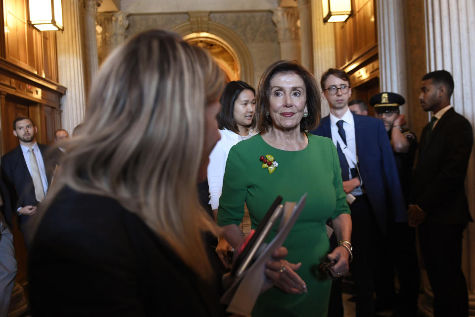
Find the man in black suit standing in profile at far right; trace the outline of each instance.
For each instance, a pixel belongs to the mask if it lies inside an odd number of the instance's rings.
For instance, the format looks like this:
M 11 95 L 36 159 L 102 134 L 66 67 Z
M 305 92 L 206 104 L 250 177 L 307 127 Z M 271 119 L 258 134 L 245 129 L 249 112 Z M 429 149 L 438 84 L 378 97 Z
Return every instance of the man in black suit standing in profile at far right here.
M 422 78 L 419 99 L 432 111 L 424 127 L 412 181 L 409 225 L 419 242 L 434 294 L 434 316 L 468 316 L 468 292 L 462 272 L 462 237 L 473 221 L 464 180 L 474 142 L 470 122 L 450 105 L 452 75 L 433 71 Z

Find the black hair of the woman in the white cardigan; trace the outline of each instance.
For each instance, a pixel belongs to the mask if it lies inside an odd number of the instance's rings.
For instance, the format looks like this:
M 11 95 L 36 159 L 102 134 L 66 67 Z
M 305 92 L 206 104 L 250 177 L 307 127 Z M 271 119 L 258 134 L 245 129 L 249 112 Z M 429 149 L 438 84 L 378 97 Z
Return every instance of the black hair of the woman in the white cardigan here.
M 238 125 L 234 119 L 234 103 L 236 102 L 236 99 L 238 99 L 239 94 L 246 89 L 252 91 L 255 98 L 256 91 L 254 88 L 240 80 L 230 81 L 224 88 L 221 98 L 219 99 L 221 111 L 217 116 L 218 127 L 221 130 L 228 129 L 235 133 L 239 133 Z M 251 102 L 251 100 L 249 102 Z M 255 117 L 256 116 L 252 118 L 251 126 L 255 125 Z

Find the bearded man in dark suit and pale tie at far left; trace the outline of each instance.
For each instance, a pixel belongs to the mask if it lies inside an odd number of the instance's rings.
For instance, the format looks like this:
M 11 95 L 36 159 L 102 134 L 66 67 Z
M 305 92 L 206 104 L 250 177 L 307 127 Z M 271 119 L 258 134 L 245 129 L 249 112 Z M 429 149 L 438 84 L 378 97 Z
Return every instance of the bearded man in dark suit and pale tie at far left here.
M 38 144 L 35 135 L 38 132 L 29 117 L 17 117 L 13 120 L 13 135 L 20 145 L 1 158 L 2 178 L 10 193 L 16 193 L 12 208 L 18 214 L 18 224 L 28 246 L 29 237 L 25 224 L 37 206 L 46 196 L 54 169 L 57 151 L 47 145 Z

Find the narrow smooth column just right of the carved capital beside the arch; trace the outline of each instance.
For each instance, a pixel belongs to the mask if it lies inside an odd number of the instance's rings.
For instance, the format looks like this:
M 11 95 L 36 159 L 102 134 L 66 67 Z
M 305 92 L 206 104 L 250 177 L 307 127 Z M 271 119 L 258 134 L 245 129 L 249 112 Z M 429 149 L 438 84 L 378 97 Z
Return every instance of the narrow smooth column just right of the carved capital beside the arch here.
M 312 5 L 311 0 L 298 0 L 302 65 L 313 72 Z

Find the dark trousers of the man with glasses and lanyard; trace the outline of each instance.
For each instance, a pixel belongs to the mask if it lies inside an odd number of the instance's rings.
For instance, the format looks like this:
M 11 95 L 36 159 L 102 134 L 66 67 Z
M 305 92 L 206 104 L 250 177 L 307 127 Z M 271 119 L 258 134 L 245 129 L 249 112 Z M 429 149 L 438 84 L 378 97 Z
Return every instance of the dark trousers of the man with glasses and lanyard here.
M 380 252 L 387 246 L 366 194 L 357 196 L 350 210 L 354 248 L 350 271 L 356 288 L 356 317 L 372 317 L 375 315 L 374 281 L 387 269 L 379 259 Z

